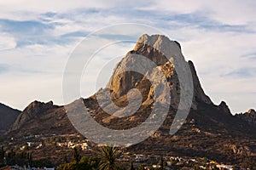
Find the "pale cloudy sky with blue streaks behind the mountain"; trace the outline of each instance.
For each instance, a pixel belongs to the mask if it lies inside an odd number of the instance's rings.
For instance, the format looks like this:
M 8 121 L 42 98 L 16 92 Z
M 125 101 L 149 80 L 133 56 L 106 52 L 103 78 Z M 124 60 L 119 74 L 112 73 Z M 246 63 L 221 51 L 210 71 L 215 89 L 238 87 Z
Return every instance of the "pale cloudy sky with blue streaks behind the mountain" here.
M 224 100 L 232 113 L 247 111 L 256 107 L 255 8 L 253 0 L 0 1 L 0 103 L 19 110 L 33 100 L 63 105 L 63 71 L 79 42 L 102 27 L 135 23 L 180 42 L 214 104 Z M 105 56 L 122 57 L 134 45 Z M 95 60 L 92 71 L 109 65 L 104 57 Z M 83 97 L 96 92 L 93 77 L 84 82 Z

